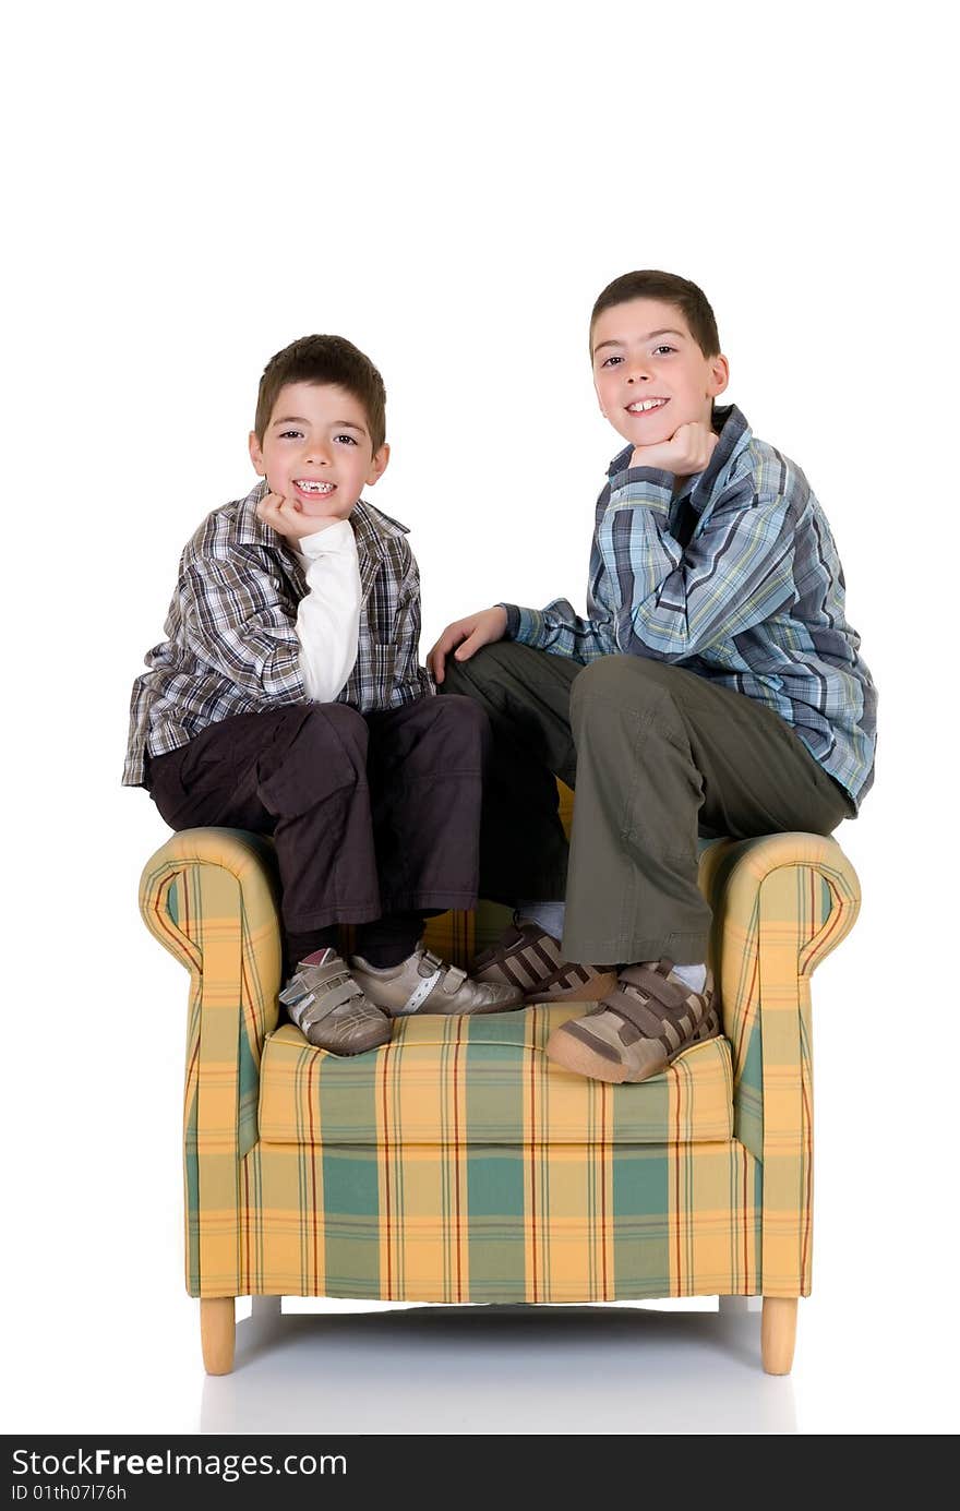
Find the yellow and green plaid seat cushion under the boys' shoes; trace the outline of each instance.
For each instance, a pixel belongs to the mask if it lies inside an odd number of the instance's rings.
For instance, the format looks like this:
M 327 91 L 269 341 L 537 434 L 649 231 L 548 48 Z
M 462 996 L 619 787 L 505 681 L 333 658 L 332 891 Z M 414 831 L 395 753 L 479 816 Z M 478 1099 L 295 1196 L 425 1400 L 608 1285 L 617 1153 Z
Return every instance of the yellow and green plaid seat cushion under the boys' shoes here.
M 550 1064 L 571 1002 L 487 1017 L 410 1017 L 379 1050 L 343 1058 L 284 1023 L 260 1065 L 269 1144 L 689 1144 L 733 1136 L 730 1046 L 695 1044 L 635 1086 Z

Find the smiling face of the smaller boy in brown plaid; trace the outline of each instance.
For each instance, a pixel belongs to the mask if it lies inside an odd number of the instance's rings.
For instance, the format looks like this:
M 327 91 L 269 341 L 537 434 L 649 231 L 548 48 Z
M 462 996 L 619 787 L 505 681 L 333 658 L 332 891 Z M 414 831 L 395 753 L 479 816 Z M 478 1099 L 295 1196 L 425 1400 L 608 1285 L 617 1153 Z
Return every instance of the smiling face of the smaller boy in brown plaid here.
M 390 456 L 375 453 L 363 405 L 333 384 L 292 382 L 277 394 L 263 440 L 249 435 L 249 458 L 271 493 L 302 514 L 345 520 L 364 484 L 382 476 Z

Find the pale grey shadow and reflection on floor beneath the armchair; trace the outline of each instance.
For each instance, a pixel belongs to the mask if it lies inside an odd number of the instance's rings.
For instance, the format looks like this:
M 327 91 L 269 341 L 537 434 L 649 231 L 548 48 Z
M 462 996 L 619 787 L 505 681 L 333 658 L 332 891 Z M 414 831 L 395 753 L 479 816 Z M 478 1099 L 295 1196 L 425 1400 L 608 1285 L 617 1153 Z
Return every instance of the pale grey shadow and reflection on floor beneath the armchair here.
M 797 1432 L 760 1318 L 591 1306 L 255 1309 L 201 1432 Z

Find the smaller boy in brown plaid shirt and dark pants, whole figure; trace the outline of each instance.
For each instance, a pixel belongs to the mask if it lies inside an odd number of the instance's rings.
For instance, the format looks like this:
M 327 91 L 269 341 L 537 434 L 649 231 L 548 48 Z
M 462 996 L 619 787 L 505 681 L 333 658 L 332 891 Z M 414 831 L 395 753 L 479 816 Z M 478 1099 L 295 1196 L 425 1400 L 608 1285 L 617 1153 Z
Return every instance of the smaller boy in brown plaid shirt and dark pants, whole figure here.
M 384 1044 L 398 1014 L 523 1000 L 419 943 L 428 914 L 476 901 L 488 728 L 469 698 L 432 695 L 407 529 L 360 497 L 387 467 L 384 406 L 378 370 L 339 335 L 268 363 L 249 435 L 265 480 L 183 553 L 124 769 L 174 830 L 274 836 L 280 999 L 336 1055 Z M 358 925 L 349 966 L 340 923 Z

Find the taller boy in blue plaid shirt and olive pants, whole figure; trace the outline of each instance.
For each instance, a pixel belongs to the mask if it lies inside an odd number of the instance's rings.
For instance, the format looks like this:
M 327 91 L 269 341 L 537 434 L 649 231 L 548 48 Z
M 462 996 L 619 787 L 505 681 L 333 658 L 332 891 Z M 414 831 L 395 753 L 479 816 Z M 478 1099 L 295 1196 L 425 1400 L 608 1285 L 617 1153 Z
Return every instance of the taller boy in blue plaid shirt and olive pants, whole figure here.
M 590 352 L 627 444 L 597 500 L 587 618 L 502 603 L 447 626 L 428 666 L 493 725 L 481 893 L 517 911 L 475 973 L 528 1002 L 599 1000 L 547 1055 L 636 1082 L 720 1032 L 698 834 L 854 817 L 875 692 L 804 474 L 715 406 L 729 364 L 703 292 L 617 278 Z M 552 774 L 576 786 L 568 857 Z

